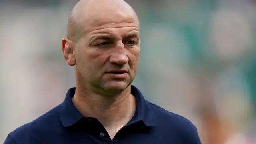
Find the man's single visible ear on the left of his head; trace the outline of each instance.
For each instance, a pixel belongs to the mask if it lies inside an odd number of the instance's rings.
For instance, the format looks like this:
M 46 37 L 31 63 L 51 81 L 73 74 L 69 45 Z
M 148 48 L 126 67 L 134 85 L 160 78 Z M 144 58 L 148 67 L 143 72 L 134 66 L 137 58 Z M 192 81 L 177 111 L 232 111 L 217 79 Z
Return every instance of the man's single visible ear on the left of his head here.
M 64 55 L 64 59 L 70 66 L 76 65 L 76 58 L 74 54 L 74 47 L 72 45 L 72 41 L 69 40 L 68 38 L 63 38 L 62 39 L 62 52 Z

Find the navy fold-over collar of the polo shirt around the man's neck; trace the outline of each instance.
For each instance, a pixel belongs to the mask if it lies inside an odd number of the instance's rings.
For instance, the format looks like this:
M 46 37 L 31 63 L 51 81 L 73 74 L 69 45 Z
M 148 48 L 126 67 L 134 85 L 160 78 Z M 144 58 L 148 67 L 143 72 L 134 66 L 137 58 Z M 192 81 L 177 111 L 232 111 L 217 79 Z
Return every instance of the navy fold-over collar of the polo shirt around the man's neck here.
M 59 105 L 60 120 L 64 127 L 69 127 L 84 116 L 76 109 L 72 102 L 76 88 L 70 88 L 66 94 L 65 100 Z M 131 86 L 131 94 L 136 97 L 137 106 L 132 120 L 128 123 L 135 123 L 142 121 L 146 126 L 156 126 L 156 119 L 154 113 L 148 107 L 148 102 L 144 99 L 142 93 L 135 86 Z

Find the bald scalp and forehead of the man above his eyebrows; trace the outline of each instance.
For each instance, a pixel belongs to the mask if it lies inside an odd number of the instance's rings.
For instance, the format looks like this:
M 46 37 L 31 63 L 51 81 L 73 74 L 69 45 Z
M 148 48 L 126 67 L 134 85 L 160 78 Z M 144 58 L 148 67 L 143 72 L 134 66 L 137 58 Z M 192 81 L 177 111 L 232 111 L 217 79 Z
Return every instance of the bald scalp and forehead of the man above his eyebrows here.
M 80 0 L 70 12 L 67 38 L 76 41 L 97 26 L 129 22 L 128 18 L 134 19 L 139 27 L 136 13 L 123 0 Z

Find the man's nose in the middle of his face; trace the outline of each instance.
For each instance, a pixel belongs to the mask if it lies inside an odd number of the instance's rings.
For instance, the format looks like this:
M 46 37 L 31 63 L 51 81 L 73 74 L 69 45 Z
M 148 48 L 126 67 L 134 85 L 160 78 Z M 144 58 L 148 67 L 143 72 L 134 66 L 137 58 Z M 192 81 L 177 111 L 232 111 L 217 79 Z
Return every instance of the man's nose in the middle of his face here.
M 123 43 L 118 44 L 116 48 L 113 49 L 109 61 L 119 65 L 124 65 L 129 61 L 126 48 Z

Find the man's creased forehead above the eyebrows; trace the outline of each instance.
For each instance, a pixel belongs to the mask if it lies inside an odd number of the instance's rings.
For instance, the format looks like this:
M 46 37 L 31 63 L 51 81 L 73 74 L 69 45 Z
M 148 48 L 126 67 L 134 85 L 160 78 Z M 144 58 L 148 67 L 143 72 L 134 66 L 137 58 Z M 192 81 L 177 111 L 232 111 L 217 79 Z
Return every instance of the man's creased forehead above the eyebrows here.
M 88 5 L 90 6 L 90 5 Z M 118 28 L 127 30 L 127 28 L 139 29 L 139 22 L 136 13 L 130 6 L 110 5 L 102 8 L 97 6 L 84 9 L 80 16 L 81 28 L 85 33 L 99 31 L 106 28 Z

